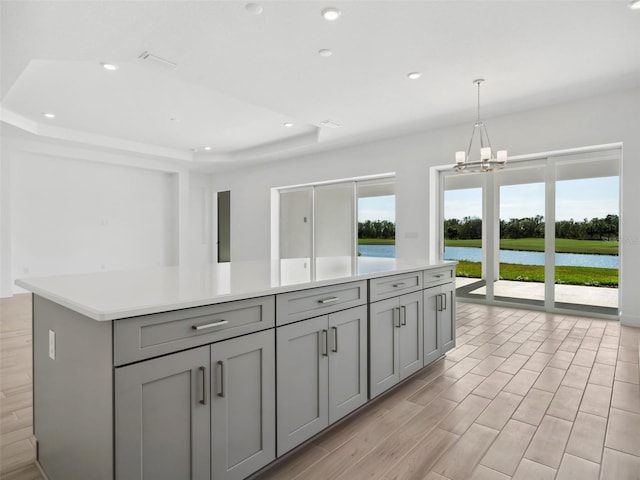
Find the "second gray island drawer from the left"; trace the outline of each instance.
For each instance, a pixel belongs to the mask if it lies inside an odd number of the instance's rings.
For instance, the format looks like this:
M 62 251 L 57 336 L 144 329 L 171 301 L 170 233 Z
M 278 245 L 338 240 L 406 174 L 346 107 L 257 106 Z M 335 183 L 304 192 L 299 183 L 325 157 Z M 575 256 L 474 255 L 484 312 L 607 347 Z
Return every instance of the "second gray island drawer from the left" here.
M 276 296 L 276 325 L 286 325 L 366 303 L 366 280 L 283 293 Z

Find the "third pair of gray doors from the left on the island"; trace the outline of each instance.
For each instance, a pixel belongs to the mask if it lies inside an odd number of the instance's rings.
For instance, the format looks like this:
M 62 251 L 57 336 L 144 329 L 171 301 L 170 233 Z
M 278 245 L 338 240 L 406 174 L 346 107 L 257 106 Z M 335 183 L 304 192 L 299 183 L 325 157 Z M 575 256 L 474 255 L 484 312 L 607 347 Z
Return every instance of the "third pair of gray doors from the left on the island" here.
M 424 366 L 422 291 L 372 303 L 369 323 L 373 398 Z

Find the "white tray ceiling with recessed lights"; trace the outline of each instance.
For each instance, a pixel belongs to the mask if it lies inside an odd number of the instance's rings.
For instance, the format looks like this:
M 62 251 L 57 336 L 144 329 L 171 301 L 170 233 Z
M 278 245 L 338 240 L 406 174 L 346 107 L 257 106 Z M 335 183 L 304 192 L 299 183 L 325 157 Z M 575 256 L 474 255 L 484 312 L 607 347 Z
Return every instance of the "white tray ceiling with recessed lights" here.
M 229 168 L 640 84 L 627 0 L 248 3 L 2 0 L 3 121 Z

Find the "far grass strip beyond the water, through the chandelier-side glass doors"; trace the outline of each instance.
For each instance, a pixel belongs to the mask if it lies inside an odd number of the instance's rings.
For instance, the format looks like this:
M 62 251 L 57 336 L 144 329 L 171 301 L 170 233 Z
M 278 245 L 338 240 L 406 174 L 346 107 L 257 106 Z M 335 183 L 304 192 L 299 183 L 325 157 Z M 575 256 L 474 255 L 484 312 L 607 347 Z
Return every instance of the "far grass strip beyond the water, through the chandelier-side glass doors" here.
M 482 240 L 445 240 L 447 247 L 481 247 Z M 500 240 L 502 250 L 524 250 L 544 252 L 544 238 L 519 238 Z M 592 253 L 599 255 L 618 255 L 618 242 L 602 240 L 556 239 L 557 253 Z

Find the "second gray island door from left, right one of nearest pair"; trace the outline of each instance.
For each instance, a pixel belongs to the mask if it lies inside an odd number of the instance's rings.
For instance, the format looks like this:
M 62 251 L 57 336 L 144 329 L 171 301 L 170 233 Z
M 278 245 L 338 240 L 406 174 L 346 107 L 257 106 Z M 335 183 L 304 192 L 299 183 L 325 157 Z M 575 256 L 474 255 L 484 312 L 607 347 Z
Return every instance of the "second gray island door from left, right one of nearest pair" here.
M 276 457 L 275 331 L 211 346 L 211 469 L 241 480 Z

